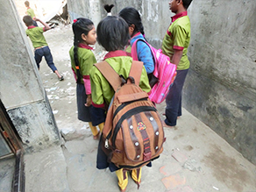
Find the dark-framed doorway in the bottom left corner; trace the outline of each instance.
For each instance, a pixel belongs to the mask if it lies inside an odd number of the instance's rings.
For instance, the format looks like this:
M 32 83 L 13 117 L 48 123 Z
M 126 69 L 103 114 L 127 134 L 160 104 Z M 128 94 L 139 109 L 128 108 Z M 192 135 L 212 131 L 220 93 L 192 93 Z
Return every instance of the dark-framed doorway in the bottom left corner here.
M 0 99 L 0 191 L 25 191 L 23 148 Z

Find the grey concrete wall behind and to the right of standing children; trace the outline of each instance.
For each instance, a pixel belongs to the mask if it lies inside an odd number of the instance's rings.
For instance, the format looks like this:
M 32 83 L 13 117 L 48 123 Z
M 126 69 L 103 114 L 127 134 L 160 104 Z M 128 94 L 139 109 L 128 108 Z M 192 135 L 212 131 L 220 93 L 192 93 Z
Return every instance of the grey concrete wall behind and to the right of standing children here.
M 87 4 L 85 4 L 85 2 Z M 89 4 L 88 4 L 89 2 Z M 168 0 L 68 0 L 71 18 L 106 16 L 103 4 L 141 13 L 146 39 L 160 48 L 170 24 Z M 92 6 L 92 4 L 96 4 Z M 91 7 L 93 9 L 91 9 Z M 191 68 L 183 106 L 256 164 L 256 4 L 255 0 L 194 0 L 188 8 Z M 99 18 L 97 14 L 100 14 Z M 72 18 L 72 19 L 73 19 Z

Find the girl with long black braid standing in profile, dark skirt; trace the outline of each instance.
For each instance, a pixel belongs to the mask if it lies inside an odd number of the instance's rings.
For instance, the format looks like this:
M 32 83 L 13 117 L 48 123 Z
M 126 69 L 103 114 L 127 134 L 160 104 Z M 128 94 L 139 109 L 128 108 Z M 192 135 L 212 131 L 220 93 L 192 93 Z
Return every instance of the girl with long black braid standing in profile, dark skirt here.
M 72 70 L 76 81 L 76 100 L 78 119 L 89 122 L 93 139 L 98 139 L 100 131 L 103 130 L 105 121 L 105 110 L 96 109 L 91 105 L 91 89 L 89 81 L 89 70 L 96 63 L 96 57 L 92 53 L 92 47 L 96 44 L 96 29 L 92 21 L 87 18 L 77 18 L 72 25 L 74 32 L 74 46 L 69 51 Z

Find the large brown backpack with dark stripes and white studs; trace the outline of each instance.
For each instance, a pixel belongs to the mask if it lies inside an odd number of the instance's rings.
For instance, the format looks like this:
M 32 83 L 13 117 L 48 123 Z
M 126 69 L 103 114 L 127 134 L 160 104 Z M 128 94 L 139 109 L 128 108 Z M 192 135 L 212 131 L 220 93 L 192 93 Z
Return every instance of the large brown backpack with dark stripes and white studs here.
M 101 138 L 109 162 L 131 170 L 159 158 L 165 137 L 158 111 L 139 87 L 143 62 L 132 62 L 126 80 L 106 61 L 95 66 L 116 91 Z

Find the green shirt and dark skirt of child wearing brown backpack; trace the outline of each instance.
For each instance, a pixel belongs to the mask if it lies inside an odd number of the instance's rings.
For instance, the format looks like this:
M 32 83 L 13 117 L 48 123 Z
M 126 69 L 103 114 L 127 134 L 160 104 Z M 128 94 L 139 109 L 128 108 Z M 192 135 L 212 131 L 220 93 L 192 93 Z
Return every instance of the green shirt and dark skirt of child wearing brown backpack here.
M 106 54 L 104 60 L 110 64 L 110 66 L 117 72 L 117 74 L 123 75 L 124 78 L 128 77 L 130 68 L 132 67 L 132 57 L 127 56 L 127 53 L 119 50 L 110 52 Z M 114 89 L 112 89 L 110 83 L 107 82 L 105 77 L 103 77 L 101 72 L 96 67 L 93 67 L 90 71 L 90 81 L 93 105 L 96 107 L 108 106 L 115 92 Z M 139 87 L 146 92 L 151 90 L 145 68 L 142 69 Z M 96 167 L 98 169 L 109 167 L 111 172 L 117 171 L 119 168 L 116 167 L 115 164 L 108 162 L 108 157 L 105 155 L 105 153 L 103 153 L 101 142 L 103 142 L 102 139 L 100 139 L 99 142 Z M 149 166 L 151 166 L 151 163 Z

